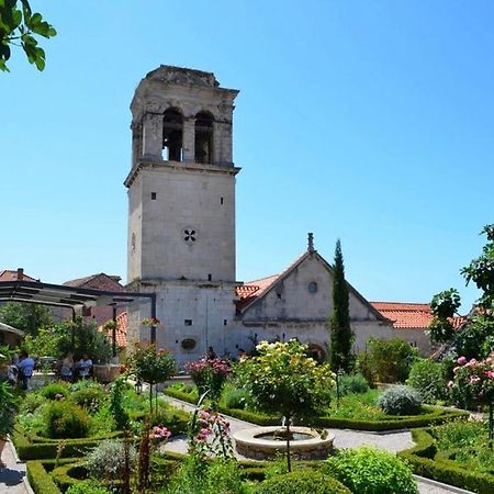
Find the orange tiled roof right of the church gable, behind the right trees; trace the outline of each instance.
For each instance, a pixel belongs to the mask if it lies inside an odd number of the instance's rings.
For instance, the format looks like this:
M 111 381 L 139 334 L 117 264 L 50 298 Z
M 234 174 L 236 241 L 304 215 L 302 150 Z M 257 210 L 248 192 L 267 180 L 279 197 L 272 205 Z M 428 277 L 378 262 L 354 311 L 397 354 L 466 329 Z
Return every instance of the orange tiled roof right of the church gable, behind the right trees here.
M 429 304 L 404 302 L 371 302 L 384 317 L 393 321 L 395 329 L 427 329 L 434 316 Z M 465 321 L 463 316 L 454 316 L 451 322 L 454 328 Z

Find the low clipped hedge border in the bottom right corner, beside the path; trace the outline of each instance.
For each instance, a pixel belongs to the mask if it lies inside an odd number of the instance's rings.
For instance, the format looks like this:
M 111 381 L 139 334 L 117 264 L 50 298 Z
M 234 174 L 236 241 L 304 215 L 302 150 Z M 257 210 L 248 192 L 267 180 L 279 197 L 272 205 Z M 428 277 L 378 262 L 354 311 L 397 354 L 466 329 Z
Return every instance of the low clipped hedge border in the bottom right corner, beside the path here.
M 437 453 L 436 441 L 427 430 L 413 430 L 412 437 L 417 445 L 400 451 L 397 456 L 412 465 L 415 474 L 479 494 L 494 492 L 494 475 L 474 473 L 453 464 L 452 461 L 441 460 L 441 456 Z

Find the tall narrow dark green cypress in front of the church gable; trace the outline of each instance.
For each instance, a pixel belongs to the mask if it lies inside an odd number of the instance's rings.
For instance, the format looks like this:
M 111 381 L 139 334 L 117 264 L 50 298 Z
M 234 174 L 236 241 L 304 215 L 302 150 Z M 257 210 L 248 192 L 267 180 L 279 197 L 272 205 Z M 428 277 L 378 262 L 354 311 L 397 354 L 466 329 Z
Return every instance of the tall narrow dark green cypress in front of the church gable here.
M 341 243 L 336 242 L 335 265 L 333 267 L 333 311 L 329 316 L 329 363 L 335 372 L 349 372 L 353 364 L 351 346 L 355 340 L 350 326 L 348 307 L 348 285 L 345 281 L 345 267 Z

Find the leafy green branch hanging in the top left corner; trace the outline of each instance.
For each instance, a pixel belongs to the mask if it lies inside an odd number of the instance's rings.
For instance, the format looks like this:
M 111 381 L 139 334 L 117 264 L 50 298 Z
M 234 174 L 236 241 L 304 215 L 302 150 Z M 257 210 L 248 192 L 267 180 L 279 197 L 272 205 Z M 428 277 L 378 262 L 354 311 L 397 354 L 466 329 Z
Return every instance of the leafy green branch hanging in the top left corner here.
M 57 34 L 54 26 L 38 12 L 33 13 L 29 0 L 0 0 L 0 70 L 9 71 L 7 63 L 11 46 L 21 46 L 30 64 L 45 68 L 45 50 L 35 36 L 46 38 Z

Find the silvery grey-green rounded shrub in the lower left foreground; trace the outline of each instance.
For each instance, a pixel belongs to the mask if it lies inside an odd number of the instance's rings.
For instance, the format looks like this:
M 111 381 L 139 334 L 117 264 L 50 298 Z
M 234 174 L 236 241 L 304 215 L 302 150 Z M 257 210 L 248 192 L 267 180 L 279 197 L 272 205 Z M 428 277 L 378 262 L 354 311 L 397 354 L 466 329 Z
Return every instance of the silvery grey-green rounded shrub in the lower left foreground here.
M 136 459 L 133 446 L 128 450 L 131 468 Z M 86 468 L 91 478 L 98 480 L 122 479 L 125 471 L 125 446 L 119 440 L 101 441 L 86 457 Z

